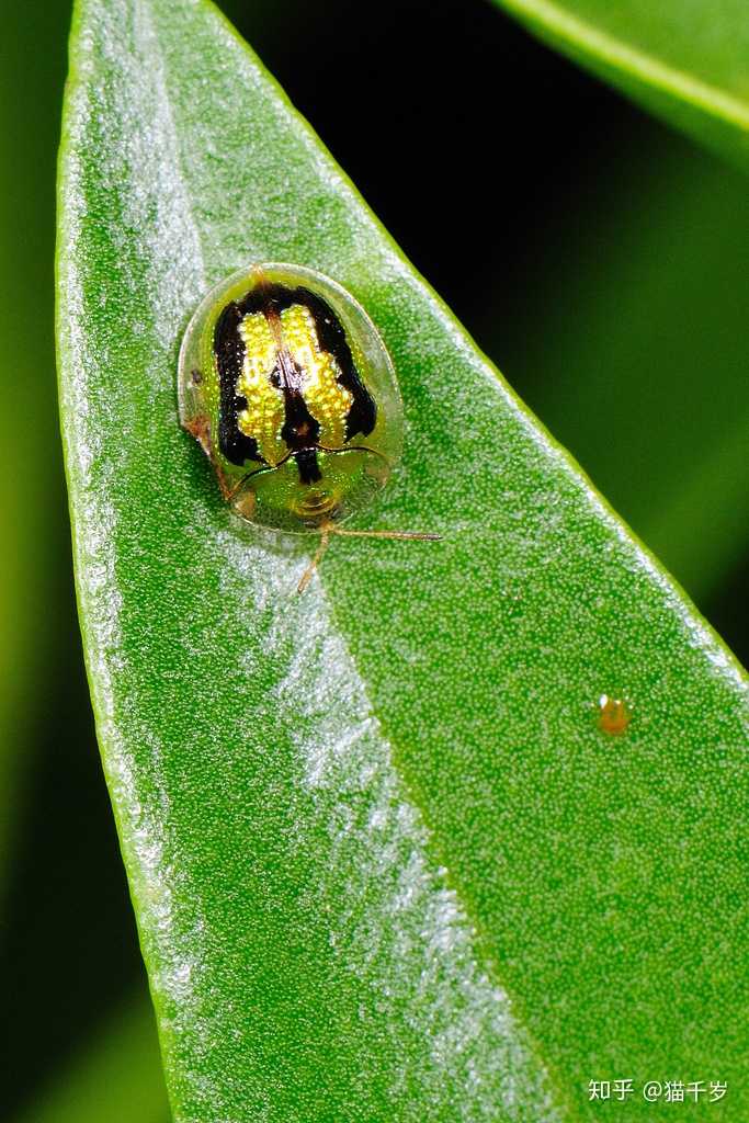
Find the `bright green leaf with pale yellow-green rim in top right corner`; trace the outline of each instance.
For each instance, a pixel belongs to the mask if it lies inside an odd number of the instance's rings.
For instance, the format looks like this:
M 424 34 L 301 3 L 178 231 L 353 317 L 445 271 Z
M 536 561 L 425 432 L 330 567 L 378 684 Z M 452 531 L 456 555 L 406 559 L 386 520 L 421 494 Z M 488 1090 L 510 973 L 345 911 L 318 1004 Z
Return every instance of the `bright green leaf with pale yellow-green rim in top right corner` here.
M 495 0 L 650 112 L 749 166 L 745 0 Z

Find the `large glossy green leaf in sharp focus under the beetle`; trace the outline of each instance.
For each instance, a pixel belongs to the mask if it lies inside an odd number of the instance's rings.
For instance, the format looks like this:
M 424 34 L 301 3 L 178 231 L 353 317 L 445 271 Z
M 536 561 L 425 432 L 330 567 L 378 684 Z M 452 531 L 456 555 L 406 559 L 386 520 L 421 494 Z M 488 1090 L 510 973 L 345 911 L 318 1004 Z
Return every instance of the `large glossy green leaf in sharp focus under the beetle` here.
M 404 463 L 357 526 L 445 536 L 336 541 L 302 596 L 314 544 L 239 526 L 176 413 L 191 311 L 271 259 L 345 285 L 399 372 Z M 79 6 L 58 293 L 176 1116 L 578 1119 L 591 1078 L 666 1074 L 749 1106 L 741 673 L 202 0 Z

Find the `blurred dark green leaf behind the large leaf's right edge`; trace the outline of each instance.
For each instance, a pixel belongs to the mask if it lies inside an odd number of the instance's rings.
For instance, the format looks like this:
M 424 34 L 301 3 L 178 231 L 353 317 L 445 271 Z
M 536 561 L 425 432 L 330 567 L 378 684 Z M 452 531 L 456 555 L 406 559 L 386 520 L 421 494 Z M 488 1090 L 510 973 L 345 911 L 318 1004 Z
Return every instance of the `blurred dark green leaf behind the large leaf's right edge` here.
M 749 545 L 746 197 L 743 175 L 640 129 L 602 170 L 584 221 L 559 209 L 537 234 L 542 254 L 515 279 L 504 321 L 478 325 L 528 404 L 698 604 Z M 502 279 L 488 305 L 500 303 Z

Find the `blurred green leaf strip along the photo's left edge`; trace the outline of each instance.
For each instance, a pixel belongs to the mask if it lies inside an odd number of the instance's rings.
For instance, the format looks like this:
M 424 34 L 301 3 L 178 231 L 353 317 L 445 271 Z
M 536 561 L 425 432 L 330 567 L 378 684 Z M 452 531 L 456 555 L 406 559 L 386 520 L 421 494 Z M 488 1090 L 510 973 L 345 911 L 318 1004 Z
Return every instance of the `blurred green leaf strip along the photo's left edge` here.
M 48 8 L 33 26 L 21 6 L 2 13 L 0 67 L 0 897 L 38 751 L 39 683 L 58 661 L 61 588 L 48 566 L 67 538 L 55 421 L 49 254 L 54 238 L 55 99 L 67 15 Z M 19 159 L 19 152 L 24 158 Z M 60 513 L 58 513 L 60 512 Z M 12 544 L 12 545 L 11 545 Z M 65 548 L 65 553 L 67 553 Z M 64 594 L 63 594 L 64 595 Z M 39 623 L 44 622 L 43 628 Z M 4 907 L 3 907 L 4 913 Z

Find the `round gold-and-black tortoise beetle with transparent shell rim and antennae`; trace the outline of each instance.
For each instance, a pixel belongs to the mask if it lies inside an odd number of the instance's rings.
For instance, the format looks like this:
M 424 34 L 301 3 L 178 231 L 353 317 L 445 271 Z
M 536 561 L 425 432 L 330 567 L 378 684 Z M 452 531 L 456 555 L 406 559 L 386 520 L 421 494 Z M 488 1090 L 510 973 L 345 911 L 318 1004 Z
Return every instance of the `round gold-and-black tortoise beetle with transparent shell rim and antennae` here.
M 402 450 L 402 403 L 372 320 L 339 284 L 300 265 L 250 265 L 216 285 L 182 344 L 180 420 L 246 521 L 314 531 L 309 584 L 340 521 L 385 486 Z

